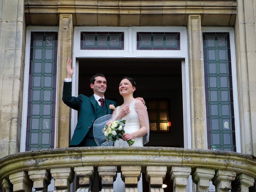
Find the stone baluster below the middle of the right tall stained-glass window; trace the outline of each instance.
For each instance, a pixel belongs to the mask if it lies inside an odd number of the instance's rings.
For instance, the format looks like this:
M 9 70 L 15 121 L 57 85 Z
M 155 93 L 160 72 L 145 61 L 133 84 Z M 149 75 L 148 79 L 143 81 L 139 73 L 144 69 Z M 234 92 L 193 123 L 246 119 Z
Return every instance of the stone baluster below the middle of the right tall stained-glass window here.
M 231 182 L 235 180 L 236 173 L 227 170 L 218 170 L 212 179 L 216 192 L 228 192 L 231 189 Z

